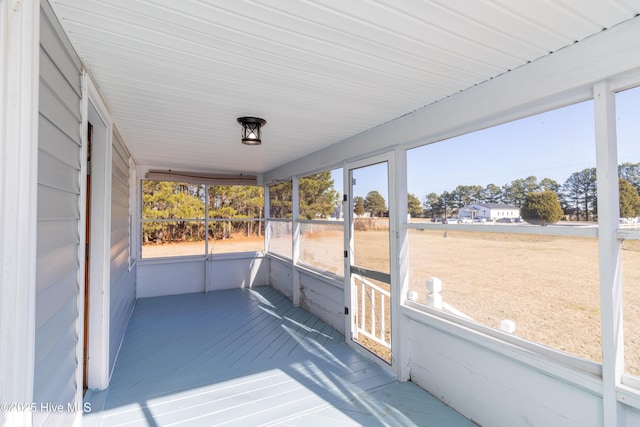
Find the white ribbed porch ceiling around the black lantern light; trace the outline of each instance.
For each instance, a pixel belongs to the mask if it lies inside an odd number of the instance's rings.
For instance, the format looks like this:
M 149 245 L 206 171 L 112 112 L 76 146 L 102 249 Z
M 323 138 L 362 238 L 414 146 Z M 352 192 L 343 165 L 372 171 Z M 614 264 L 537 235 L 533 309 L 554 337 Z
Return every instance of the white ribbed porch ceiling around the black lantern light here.
M 263 173 L 640 13 L 640 0 L 49 0 L 134 159 Z M 240 144 L 237 117 L 267 120 Z

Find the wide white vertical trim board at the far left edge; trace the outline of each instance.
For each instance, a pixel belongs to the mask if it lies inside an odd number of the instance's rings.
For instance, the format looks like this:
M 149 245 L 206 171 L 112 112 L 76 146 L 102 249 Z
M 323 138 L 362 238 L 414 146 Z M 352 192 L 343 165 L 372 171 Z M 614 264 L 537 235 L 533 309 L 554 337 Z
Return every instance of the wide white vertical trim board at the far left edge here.
M 32 402 L 40 2 L 0 0 L 0 396 Z M 32 423 L 0 411 L 0 424 Z

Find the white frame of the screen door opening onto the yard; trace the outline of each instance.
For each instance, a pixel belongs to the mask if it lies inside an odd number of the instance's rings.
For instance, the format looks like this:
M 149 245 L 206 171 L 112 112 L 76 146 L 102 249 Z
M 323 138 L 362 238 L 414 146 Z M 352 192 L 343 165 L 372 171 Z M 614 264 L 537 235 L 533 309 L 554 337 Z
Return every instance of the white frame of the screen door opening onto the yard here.
M 346 196 L 343 200 L 343 212 L 345 215 L 344 221 L 344 250 L 345 250 L 345 262 L 344 262 L 344 304 L 345 309 L 345 341 L 348 345 L 358 350 L 360 353 L 364 354 L 369 359 L 376 362 L 378 365 L 384 367 L 396 373 L 397 370 L 397 357 L 396 351 L 398 349 L 398 342 L 400 341 L 399 337 L 399 298 L 398 298 L 398 247 L 397 247 L 397 238 L 398 236 L 398 200 L 402 199 L 402 197 L 398 197 L 397 194 L 397 186 L 396 186 L 396 153 L 395 151 L 389 151 L 386 153 L 362 158 L 359 160 L 354 160 L 351 162 L 346 162 L 343 165 L 343 194 Z M 354 316 L 352 307 L 352 295 L 351 295 L 351 263 L 353 261 L 353 250 L 354 250 L 354 241 L 353 241 L 353 195 L 351 194 L 351 179 L 350 172 L 353 169 L 359 169 L 366 166 L 375 165 L 378 163 L 387 163 L 387 184 L 389 186 L 388 191 L 388 207 L 389 207 L 389 269 L 391 276 L 390 290 L 391 290 L 391 362 L 387 363 L 380 357 L 376 356 L 372 352 L 366 350 L 363 346 L 353 341 L 353 329 L 354 329 Z M 406 195 L 404 197 L 406 200 Z M 405 209 L 406 210 L 406 209 Z

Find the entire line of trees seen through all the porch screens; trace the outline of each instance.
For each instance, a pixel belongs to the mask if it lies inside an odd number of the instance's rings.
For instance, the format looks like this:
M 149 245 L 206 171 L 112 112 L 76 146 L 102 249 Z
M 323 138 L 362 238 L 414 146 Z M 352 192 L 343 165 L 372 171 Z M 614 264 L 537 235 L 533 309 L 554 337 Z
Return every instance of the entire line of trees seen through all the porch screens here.
M 620 176 L 620 216 L 640 216 L 640 163 L 622 163 Z M 522 208 L 532 193 L 551 191 L 567 219 L 597 219 L 597 185 L 595 168 L 572 173 L 562 184 L 535 176 L 516 179 L 502 186 L 495 184 L 458 185 L 441 194 L 429 193 L 421 201 L 408 195 L 412 217 L 455 215 L 458 209 L 473 203 L 504 203 Z M 330 217 L 340 204 L 340 194 L 333 187 L 329 171 L 298 180 L 300 218 Z M 264 189 L 261 186 L 199 185 L 167 181 L 143 181 L 142 233 L 144 242 L 196 241 L 205 236 L 230 238 L 237 233 L 261 236 L 264 218 Z M 209 230 L 204 229 L 208 200 Z M 270 216 L 292 218 L 292 183 L 285 181 L 269 187 Z M 371 191 L 366 197 L 354 197 L 354 213 L 383 217 L 388 215 L 384 197 Z M 191 220 L 191 221 L 190 221 Z M 196 221 L 193 221 L 196 220 Z

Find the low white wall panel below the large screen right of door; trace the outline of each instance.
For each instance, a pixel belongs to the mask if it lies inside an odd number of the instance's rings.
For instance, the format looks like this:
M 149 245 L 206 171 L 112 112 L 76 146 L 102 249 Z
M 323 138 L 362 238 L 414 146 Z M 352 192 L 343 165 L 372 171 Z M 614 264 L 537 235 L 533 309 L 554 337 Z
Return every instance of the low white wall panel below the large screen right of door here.
M 418 319 L 404 318 L 403 328 L 411 381 L 480 425 L 602 425 L 597 392 L 532 369 L 491 350 L 490 343 L 484 347 Z M 586 377 L 575 372 L 583 383 L 589 382 Z

